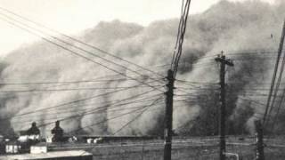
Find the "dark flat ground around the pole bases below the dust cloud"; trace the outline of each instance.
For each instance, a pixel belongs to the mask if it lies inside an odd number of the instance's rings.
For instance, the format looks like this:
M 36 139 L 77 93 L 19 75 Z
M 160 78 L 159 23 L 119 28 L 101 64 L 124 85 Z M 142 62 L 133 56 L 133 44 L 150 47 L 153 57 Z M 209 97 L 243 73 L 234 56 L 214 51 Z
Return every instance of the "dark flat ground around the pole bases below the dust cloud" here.
M 227 152 L 238 154 L 242 160 L 255 159 L 255 138 L 227 138 Z M 216 160 L 218 158 L 218 138 L 175 138 L 172 159 Z M 285 159 L 283 138 L 265 139 L 266 159 Z M 159 160 L 163 159 L 163 140 L 115 140 L 101 144 L 61 144 L 52 147 L 59 149 L 85 149 L 93 153 L 94 160 Z M 235 159 L 228 157 L 228 159 Z

